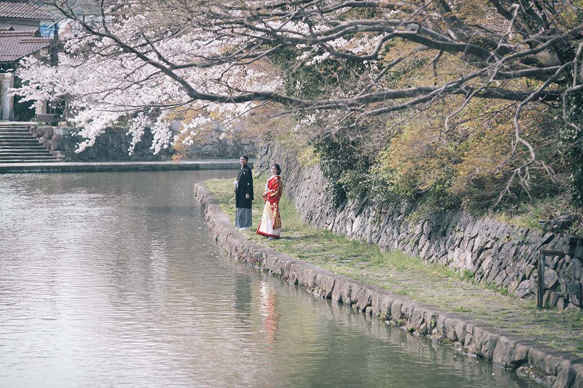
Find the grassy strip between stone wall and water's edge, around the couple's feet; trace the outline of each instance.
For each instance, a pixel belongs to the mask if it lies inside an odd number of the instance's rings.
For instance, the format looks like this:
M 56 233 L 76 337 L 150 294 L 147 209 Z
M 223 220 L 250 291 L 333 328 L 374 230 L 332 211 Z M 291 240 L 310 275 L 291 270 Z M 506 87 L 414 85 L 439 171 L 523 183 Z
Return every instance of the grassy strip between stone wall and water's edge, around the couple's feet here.
M 266 177 L 255 179 L 253 225 L 257 228 L 263 211 L 261 193 Z M 219 200 L 223 212 L 234 223 L 235 203 L 232 179 L 206 182 Z M 285 191 L 285 188 L 284 188 Z M 285 195 L 285 193 L 284 193 Z M 518 336 L 532 336 L 547 346 L 583 358 L 583 314 L 539 310 L 535 300 L 503 295 L 483 284 L 474 284 L 454 270 L 429 264 L 401 251 L 382 252 L 377 245 L 349 240 L 328 230 L 306 225 L 293 202 L 282 198 L 282 238 L 268 240 L 255 230 L 241 231 L 247 239 L 353 279 L 375 284 L 412 299 L 457 312 L 462 316 L 494 325 Z

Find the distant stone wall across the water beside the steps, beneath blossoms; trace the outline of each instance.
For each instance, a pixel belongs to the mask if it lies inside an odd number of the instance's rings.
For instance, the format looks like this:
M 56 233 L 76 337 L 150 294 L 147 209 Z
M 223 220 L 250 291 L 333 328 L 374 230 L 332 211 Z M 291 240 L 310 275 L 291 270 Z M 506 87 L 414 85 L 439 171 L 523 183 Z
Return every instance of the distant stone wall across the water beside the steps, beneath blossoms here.
M 38 138 L 57 158 L 67 162 L 106 162 L 106 161 L 164 161 L 172 158 L 174 150 L 170 147 L 154 155 L 150 149 L 153 134 L 147 129 L 139 144 L 136 144 L 132 155 L 128 155 L 131 136 L 128 128 L 107 128 L 106 132 L 97 137 L 92 147 L 76 153 L 78 143 L 85 140 L 76 136 L 78 129 L 71 127 L 31 127 L 30 132 Z M 220 139 L 222 132 L 217 129 L 210 133 L 203 142 L 197 142 L 185 150 L 185 159 L 232 159 L 241 155 L 255 158 L 257 155 L 257 140 L 242 138 L 233 140 Z

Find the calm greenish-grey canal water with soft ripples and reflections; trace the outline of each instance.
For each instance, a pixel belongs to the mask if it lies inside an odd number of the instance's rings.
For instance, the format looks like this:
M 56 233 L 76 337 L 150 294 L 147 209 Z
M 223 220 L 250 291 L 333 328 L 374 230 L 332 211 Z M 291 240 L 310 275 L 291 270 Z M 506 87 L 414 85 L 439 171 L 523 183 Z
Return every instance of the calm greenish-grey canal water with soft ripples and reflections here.
M 236 171 L 0 175 L 0 387 L 529 387 L 226 258 Z

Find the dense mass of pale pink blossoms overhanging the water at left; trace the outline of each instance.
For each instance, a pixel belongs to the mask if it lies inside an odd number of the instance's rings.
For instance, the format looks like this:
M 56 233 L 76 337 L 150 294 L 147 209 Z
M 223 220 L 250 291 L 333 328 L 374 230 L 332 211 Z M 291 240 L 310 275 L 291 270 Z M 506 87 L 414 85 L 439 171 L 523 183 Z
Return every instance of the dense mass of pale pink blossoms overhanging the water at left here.
M 136 33 L 143 30 L 146 22 L 147 15 L 137 15 L 110 29 L 133 47 L 148 45 Z M 173 72 L 201 93 L 229 95 L 277 90 L 281 80 L 271 69 L 252 63 L 206 65 L 208 58 L 223 55 L 244 40 L 243 37 L 220 40 L 207 31 L 191 30 L 152 43 L 145 55 L 152 60 L 162 56 L 176 65 L 191 64 Z M 168 113 L 198 108 L 194 119 L 184 123 L 181 129 L 181 133 L 187 135 L 183 143 L 192 144 L 196 131 L 211 123 L 232 133 L 234 124 L 259 104 L 193 101 L 184 84 L 134 53 L 120 50 L 110 38 L 96 38 L 90 34 L 66 42 L 65 51 L 59 54 L 58 66 L 30 57 L 22 60 L 17 76 L 24 81 L 24 86 L 14 91 L 23 96 L 21 101 L 67 102 L 68 121 L 78 128 L 76 134 L 85 138 L 76 152 L 90 147 L 107 127 L 127 118 L 132 118 L 133 122 L 128 132 L 132 136 L 129 153 L 141 141 L 146 127 L 154 136 L 154 153 L 160 152 L 177 138 L 171 134 Z

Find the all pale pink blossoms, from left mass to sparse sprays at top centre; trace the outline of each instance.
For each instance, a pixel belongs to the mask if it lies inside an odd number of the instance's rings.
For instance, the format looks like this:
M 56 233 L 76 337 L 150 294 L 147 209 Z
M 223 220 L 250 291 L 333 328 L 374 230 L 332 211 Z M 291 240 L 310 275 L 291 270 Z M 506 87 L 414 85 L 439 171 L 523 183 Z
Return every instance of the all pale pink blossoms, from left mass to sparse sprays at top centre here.
M 265 5 L 261 1 L 245 3 L 257 7 Z M 288 8 L 291 9 L 291 5 Z M 348 9 L 336 10 L 336 16 Z M 213 11 L 225 12 L 224 9 Z M 233 8 L 230 12 L 233 19 L 246 16 L 243 8 Z M 387 12 L 387 15 L 394 15 L 394 11 Z M 262 60 L 244 63 L 241 56 L 236 60 L 229 59 L 231 53 L 251 42 L 257 31 L 265 30 L 296 39 L 296 59 L 307 66 L 317 65 L 331 56 L 343 60 L 334 52 L 372 55 L 383 38 L 374 33 L 356 33 L 350 38 L 333 37 L 331 31 L 338 20 L 331 22 L 329 18 L 319 19 L 317 16 L 309 23 L 285 17 L 264 19 L 255 24 L 258 29 L 254 33 L 240 26 L 213 30 L 214 24 L 209 21 L 209 26 L 213 26 L 210 29 L 188 26 L 179 33 L 168 31 L 167 37 L 160 38 L 160 29 L 165 27 L 163 23 L 156 24 L 158 17 L 149 12 L 135 13 L 107 27 L 95 27 L 97 35 L 82 33 L 66 42 L 57 67 L 34 58 L 23 60 L 17 76 L 25 86 L 17 94 L 24 96 L 23 101 L 57 102 L 64 99 L 68 121 L 75 124 L 78 134 L 85 138 L 77 152 L 93 145 L 108 126 L 131 118 L 128 135 L 132 137 L 132 143 L 128 151 L 134 151 L 147 128 L 153 133 L 152 149 L 157 153 L 175 141 L 191 145 L 210 127 L 221 127 L 222 136 L 230 136 L 241 127 L 241 120 L 261 104 L 258 101 L 238 104 L 202 101 L 192 97 L 192 90 L 197 94 L 223 96 L 280 90 L 282 79 L 273 66 L 263 66 Z M 300 41 L 319 43 L 312 45 Z M 161 66 L 154 66 L 156 63 Z M 364 65 L 368 72 L 366 78 L 373 80 L 378 73 L 376 60 L 370 59 Z M 165 72 L 164 66 L 171 71 Z M 303 80 L 297 80 L 298 90 L 304 86 Z M 346 98 L 353 94 L 353 90 L 338 89 L 331 98 Z M 170 120 L 175 115 L 170 113 L 187 109 L 194 110 L 195 115 L 189 115 L 192 119 L 182 123 L 180 136 L 173 136 Z M 316 123 L 307 117 L 300 121 L 300 126 Z

